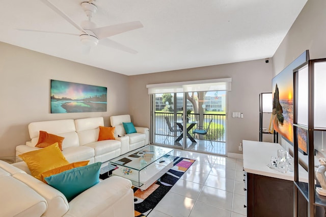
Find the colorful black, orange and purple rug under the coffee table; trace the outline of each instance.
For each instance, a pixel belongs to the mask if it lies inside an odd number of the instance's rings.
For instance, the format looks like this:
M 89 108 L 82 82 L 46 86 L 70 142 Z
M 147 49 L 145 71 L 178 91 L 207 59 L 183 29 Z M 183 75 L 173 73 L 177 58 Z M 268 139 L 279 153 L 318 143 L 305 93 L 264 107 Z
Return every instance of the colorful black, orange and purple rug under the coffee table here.
M 139 188 L 133 187 L 134 216 L 148 215 L 194 162 L 193 159 L 176 157 L 173 162 L 174 167 L 145 191 L 142 192 Z

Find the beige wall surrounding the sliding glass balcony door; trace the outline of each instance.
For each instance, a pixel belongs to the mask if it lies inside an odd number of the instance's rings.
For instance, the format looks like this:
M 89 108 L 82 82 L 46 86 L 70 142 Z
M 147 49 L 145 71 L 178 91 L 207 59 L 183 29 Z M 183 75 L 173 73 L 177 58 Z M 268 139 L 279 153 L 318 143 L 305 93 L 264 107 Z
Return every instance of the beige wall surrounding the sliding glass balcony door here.
M 138 125 L 150 125 L 148 84 L 232 77 L 232 91 L 228 93 L 227 151 L 241 153 L 238 146 L 242 140 L 259 140 L 259 93 L 271 92 L 272 64 L 256 60 L 129 76 L 130 114 Z M 244 118 L 232 118 L 232 112 L 243 112 Z

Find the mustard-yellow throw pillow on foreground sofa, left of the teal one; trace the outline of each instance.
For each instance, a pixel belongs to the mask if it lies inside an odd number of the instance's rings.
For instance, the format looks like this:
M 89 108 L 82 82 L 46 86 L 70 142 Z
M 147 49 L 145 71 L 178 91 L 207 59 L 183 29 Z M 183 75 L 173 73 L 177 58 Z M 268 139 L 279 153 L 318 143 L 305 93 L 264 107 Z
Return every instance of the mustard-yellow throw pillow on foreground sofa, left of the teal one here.
M 32 176 L 41 180 L 41 173 L 69 164 L 58 143 L 18 155 L 29 167 Z

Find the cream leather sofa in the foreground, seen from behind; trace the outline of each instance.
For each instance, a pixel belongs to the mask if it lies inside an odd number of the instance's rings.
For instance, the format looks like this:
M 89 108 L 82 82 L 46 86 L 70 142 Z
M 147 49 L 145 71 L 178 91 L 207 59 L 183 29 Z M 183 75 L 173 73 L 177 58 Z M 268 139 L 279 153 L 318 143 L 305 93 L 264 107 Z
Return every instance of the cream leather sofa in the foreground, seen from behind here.
M 125 178 L 102 180 L 68 202 L 28 173 L 0 160 L 1 216 L 134 216 L 131 182 Z

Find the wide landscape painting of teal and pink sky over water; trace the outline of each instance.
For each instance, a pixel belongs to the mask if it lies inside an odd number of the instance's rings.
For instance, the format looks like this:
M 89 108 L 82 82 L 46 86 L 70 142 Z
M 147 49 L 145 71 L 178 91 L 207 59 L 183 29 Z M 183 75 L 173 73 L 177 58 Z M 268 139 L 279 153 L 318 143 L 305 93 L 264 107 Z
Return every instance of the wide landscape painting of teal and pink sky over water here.
M 51 79 L 51 113 L 106 112 L 107 88 Z

